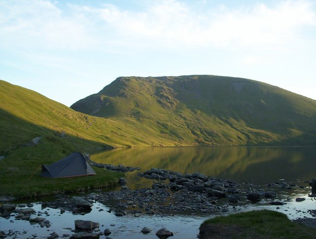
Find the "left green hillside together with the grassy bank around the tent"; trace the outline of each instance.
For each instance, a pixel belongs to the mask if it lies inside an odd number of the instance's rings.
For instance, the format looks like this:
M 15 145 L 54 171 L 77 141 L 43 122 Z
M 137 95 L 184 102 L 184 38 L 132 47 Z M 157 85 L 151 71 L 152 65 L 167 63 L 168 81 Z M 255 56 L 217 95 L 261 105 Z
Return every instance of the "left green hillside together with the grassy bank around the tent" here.
M 130 122 L 133 124 L 132 119 Z M 143 133 L 151 130 L 137 122 L 134 125 L 139 128 L 84 115 L 34 91 L 0 81 L 0 156 L 6 156 L 0 160 L 1 194 L 22 197 L 76 191 L 113 184 L 122 176 L 94 169 L 97 175 L 92 177 L 40 177 L 41 164 L 55 162 L 78 148 L 174 144 Z M 31 143 L 35 137 L 42 138 L 36 146 Z

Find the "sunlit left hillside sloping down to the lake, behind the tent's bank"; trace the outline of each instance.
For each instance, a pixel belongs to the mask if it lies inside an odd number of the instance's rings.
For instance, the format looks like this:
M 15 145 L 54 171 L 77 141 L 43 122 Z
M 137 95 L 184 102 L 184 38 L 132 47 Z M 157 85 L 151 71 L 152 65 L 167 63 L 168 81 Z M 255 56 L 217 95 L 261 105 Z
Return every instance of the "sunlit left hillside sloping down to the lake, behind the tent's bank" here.
M 160 135 L 136 119 L 86 115 L 0 80 L 0 156 L 32 144 L 36 137 L 41 138 L 40 143 L 49 147 L 59 145 L 69 152 L 85 147 L 182 144 L 179 139 Z

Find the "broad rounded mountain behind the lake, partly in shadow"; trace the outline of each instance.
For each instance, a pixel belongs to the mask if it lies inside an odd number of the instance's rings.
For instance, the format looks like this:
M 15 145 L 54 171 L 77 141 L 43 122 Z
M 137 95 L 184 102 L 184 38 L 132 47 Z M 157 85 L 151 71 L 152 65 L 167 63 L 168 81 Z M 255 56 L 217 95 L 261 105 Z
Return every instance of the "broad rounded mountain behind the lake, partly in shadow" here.
M 174 145 L 316 144 L 316 100 L 243 78 L 119 77 L 71 108 Z

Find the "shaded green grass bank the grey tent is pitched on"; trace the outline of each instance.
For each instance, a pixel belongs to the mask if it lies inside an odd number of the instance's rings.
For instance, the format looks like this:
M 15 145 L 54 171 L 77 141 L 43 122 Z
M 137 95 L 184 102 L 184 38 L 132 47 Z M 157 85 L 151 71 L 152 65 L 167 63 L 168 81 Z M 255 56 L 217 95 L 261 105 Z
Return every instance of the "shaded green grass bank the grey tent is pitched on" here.
M 124 174 L 93 168 L 96 175 L 51 179 L 40 176 L 41 164 L 50 164 L 70 153 L 70 145 L 42 140 L 37 146 L 16 149 L 0 161 L 0 192 L 18 198 L 40 197 L 111 186 Z

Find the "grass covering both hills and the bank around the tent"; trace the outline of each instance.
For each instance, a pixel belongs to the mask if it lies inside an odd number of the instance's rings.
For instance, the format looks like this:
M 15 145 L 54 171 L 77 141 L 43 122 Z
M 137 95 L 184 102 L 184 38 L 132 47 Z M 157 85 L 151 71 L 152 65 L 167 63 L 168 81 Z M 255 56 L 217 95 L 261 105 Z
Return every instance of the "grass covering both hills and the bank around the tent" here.
M 80 148 L 316 144 L 315 100 L 241 78 L 120 77 L 72 107 L 83 113 L 0 81 L 1 194 L 34 196 L 117 180 L 98 169 L 96 177 L 29 179 L 41 164 Z M 36 137 L 40 144 L 26 146 Z

